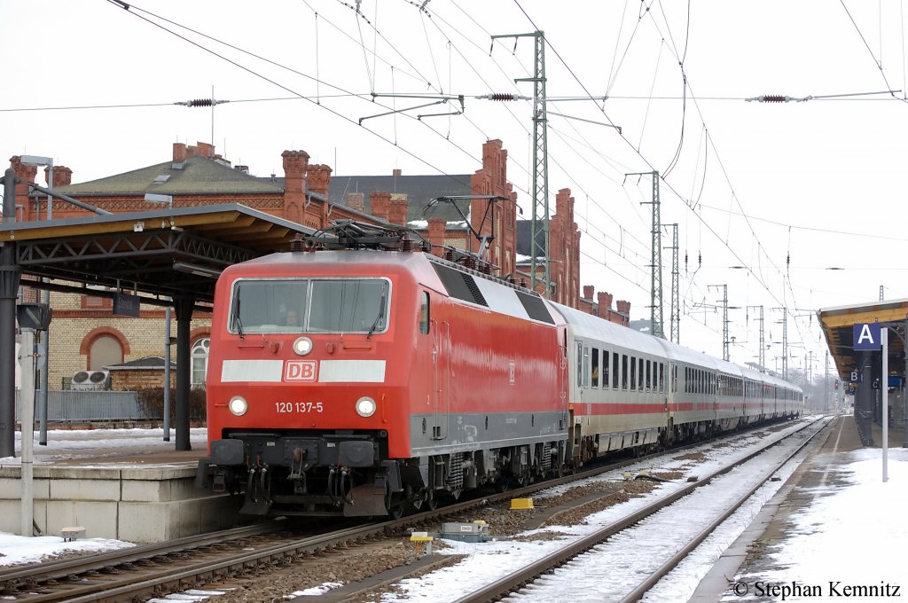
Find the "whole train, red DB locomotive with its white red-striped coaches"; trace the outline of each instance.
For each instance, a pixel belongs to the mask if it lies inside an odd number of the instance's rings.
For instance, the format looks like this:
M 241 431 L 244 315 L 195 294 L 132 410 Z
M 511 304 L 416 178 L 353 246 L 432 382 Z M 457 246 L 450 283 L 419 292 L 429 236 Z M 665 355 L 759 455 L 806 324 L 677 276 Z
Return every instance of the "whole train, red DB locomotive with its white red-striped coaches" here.
M 800 412 L 785 381 L 413 251 L 405 229 L 322 234 L 217 283 L 199 478 L 243 513 L 398 515 Z

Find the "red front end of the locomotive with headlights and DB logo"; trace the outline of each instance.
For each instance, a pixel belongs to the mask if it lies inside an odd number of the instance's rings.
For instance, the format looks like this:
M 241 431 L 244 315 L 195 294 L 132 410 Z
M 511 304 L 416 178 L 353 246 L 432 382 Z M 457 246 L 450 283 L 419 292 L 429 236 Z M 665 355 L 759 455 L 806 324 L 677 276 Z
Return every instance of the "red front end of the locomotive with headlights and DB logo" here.
M 411 287 L 405 267 L 371 252 L 279 253 L 224 271 L 200 480 L 244 492 L 246 514 L 387 513 L 400 482 L 387 460 L 408 438 L 395 416 L 405 405 L 391 400 L 410 395 Z

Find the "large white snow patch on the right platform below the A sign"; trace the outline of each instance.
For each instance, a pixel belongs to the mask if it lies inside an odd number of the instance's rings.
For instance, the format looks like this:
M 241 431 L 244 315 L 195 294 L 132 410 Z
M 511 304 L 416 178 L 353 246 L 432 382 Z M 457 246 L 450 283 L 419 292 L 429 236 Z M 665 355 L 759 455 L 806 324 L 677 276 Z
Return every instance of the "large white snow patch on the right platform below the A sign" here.
M 810 490 L 814 499 L 793 518 L 788 538 L 769 550 L 775 568 L 736 577 L 738 591 L 730 590 L 724 601 L 908 597 L 901 553 L 908 541 L 908 450 L 889 450 L 885 483 L 880 449 L 839 455 L 844 462 Z

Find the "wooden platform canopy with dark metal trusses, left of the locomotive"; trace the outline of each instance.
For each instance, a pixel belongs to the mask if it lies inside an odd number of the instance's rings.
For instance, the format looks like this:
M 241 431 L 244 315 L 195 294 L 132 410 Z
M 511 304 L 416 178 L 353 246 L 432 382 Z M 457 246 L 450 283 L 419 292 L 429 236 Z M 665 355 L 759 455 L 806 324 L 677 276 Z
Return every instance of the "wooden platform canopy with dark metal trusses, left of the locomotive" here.
M 211 302 L 224 268 L 271 252 L 290 251 L 301 224 L 238 203 L 89 215 L 0 224 L 0 242 L 16 242 L 24 275 L 60 292 L 137 293 L 143 303 L 164 297 Z M 30 284 L 23 282 L 23 284 Z

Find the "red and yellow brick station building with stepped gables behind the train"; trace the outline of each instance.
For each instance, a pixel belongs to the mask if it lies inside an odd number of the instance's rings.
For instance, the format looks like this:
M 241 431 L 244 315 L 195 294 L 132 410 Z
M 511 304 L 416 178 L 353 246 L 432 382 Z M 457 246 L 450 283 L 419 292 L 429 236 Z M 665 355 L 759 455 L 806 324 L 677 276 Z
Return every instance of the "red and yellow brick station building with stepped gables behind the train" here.
M 528 248 L 518 241 L 528 239 L 527 221 L 518 221 L 517 193 L 508 183 L 508 152 L 499 140 L 482 145 L 482 167 L 475 173 L 455 175 L 404 175 L 392 170 L 384 176 L 334 176 L 331 167 L 309 163 L 305 151 L 281 153 L 283 174 L 255 176 L 244 165 L 232 165 L 208 143 L 173 144 L 173 156 L 166 162 L 115 174 L 86 183 L 73 183 L 73 172 L 54 167 L 54 191 L 112 213 L 153 209 L 144 201 L 146 193 L 170 195 L 177 208 L 217 203 L 242 203 L 313 230 L 333 220 L 406 224 L 432 243 L 477 251 L 473 232 L 494 235 L 486 257 L 499 267 L 498 276 L 529 282 L 529 262 L 518 257 Z M 16 175 L 35 182 L 37 168 L 25 165 L 20 157 L 10 159 Z M 47 180 L 48 169 L 44 169 Z M 496 195 L 505 201 L 487 199 L 429 203 L 443 196 Z M 29 194 L 25 185 L 16 187 L 16 204 L 22 207 L 17 219 L 32 221 L 45 217 L 43 194 Z M 494 207 L 489 207 L 493 204 Z M 54 219 L 87 215 L 84 210 L 62 202 L 54 203 Z M 630 304 L 584 288 L 579 294 L 580 232 L 574 222 L 574 199 L 569 189 L 556 197 L 556 212 L 550 229 L 551 299 L 582 311 L 597 314 L 627 326 Z M 526 231 L 526 234 L 523 232 Z M 126 285 L 124 285 L 125 287 Z M 539 284 L 540 292 L 544 285 Z M 22 301 L 38 301 L 37 290 L 22 288 Z M 51 294 L 54 319 L 50 327 L 48 383 L 50 389 L 64 389 L 77 371 L 95 371 L 143 358 L 163 355 L 164 311 L 143 305 L 138 318 L 116 316 L 112 301 L 90 294 Z M 211 315 L 195 312 L 192 319 L 192 385 L 204 383 L 207 366 Z M 171 326 L 176 332 L 175 321 Z M 146 374 L 147 373 L 143 373 Z M 145 380 L 148 381 L 147 376 Z M 117 380 L 119 383 L 129 381 Z M 163 382 L 163 377 L 159 377 Z M 150 381 L 149 381 L 150 382 Z

